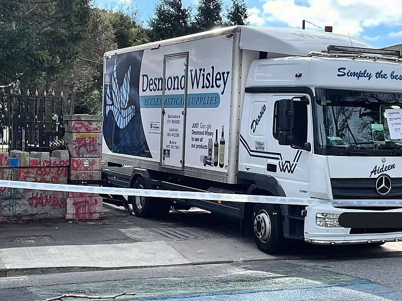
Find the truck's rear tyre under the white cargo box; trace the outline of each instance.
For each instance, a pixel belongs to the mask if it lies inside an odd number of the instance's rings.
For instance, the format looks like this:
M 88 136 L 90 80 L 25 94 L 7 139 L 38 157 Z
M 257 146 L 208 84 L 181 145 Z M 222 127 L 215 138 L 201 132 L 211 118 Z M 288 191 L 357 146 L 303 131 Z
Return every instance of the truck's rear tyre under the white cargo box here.
M 147 185 L 143 177 L 138 177 L 132 184 L 132 188 L 146 189 Z M 137 217 L 163 217 L 170 212 L 171 202 L 167 199 L 148 196 L 130 196 L 132 211 Z

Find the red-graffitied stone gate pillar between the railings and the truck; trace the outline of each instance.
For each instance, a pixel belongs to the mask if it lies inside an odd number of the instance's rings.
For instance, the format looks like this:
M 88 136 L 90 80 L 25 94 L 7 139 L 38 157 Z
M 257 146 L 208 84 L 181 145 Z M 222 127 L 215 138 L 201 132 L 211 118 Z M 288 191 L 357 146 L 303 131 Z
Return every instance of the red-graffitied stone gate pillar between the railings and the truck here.
M 103 116 L 65 115 L 64 141 L 70 154 L 71 181 L 101 179 Z M 68 220 L 96 220 L 102 215 L 102 197 L 95 193 L 70 192 Z

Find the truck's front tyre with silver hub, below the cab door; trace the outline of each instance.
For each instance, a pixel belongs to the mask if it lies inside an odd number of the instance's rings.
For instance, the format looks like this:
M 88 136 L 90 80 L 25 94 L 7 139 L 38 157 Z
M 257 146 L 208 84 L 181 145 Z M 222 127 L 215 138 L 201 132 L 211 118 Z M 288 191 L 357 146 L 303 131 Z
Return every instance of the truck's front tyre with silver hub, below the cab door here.
M 273 204 L 256 204 L 252 214 L 252 229 L 254 241 L 262 252 L 282 252 L 285 238 L 279 207 Z

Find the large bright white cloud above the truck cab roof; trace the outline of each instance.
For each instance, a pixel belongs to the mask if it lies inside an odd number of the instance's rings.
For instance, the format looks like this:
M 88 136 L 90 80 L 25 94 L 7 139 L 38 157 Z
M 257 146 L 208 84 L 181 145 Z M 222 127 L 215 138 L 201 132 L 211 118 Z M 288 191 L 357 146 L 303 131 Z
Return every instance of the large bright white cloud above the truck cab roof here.
M 290 27 L 300 28 L 302 20 L 319 27 L 333 26 L 333 32 L 360 36 L 367 27 L 402 24 L 402 1 L 386 0 L 262 0 L 262 12 L 250 12 L 251 20 L 262 23 L 271 17 Z M 301 3 L 301 4 L 300 4 Z M 252 9 L 253 10 L 253 9 Z M 306 24 L 306 29 L 318 29 Z

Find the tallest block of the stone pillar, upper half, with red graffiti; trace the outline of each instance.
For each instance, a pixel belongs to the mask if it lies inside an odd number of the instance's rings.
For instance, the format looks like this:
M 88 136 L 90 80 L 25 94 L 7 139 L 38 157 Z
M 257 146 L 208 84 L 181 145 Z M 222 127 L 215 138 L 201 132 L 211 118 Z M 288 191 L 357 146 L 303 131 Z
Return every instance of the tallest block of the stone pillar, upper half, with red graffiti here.
M 102 155 L 102 134 L 66 133 L 65 138 L 71 157 L 97 158 Z

